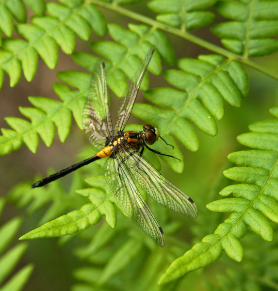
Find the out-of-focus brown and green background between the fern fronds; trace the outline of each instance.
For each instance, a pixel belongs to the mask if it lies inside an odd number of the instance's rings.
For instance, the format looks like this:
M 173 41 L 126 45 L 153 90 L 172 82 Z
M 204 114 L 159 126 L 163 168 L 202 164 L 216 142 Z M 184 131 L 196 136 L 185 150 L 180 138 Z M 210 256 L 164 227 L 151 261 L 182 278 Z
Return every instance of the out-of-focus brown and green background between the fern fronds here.
M 132 5 L 129 8 L 138 13 L 153 16 L 146 8 L 145 1 Z M 129 22 L 133 22 L 132 19 L 125 16 L 119 16 L 103 9 L 101 11 L 108 23 L 113 22 L 127 27 Z M 220 20 L 220 18 L 216 19 L 214 23 L 220 22 Z M 198 29 L 193 33 L 214 44 L 220 44 L 219 39 L 213 36 L 208 28 Z M 196 58 L 199 54 L 212 53 L 177 36 L 167 33 L 166 35 L 172 42 L 177 59 L 182 57 Z M 109 36 L 105 38 L 110 39 Z M 96 39 L 99 39 L 99 37 L 93 34 L 91 40 Z M 83 42 L 80 39 L 77 39 L 75 50 L 91 52 L 89 42 Z M 22 117 L 18 111 L 18 106 L 30 106 L 31 104 L 27 99 L 28 96 L 43 96 L 58 99 L 52 90 L 52 83 L 58 81 L 55 73 L 67 69 L 81 70 L 81 68 L 71 60 L 70 56 L 65 55 L 62 51 L 59 52 L 59 56 L 59 64 L 54 70 L 49 70 L 40 60 L 36 76 L 31 83 L 21 78 L 14 88 L 10 88 L 8 77 L 5 76 L 4 85 L 0 91 L 1 128 L 8 128 L 3 119 L 5 116 Z M 278 54 L 257 58 L 255 62 L 275 71 L 277 70 Z M 167 66 L 164 65 L 164 69 L 166 68 Z M 237 143 L 237 135 L 247 132 L 248 125 L 255 121 L 272 118 L 269 109 L 278 105 L 277 81 L 254 69 L 248 67 L 245 67 L 245 69 L 250 78 L 248 97 L 243 101 L 240 108 L 234 108 L 224 101 L 225 114 L 223 119 L 217 121 L 217 136 L 210 137 L 196 129 L 200 140 L 200 147 L 197 152 L 189 152 L 181 147 L 185 161 L 185 168 L 182 174 L 174 173 L 165 163 L 162 163 L 161 173 L 164 177 L 169 179 L 182 191 L 189 194 L 196 202 L 198 210 L 200 211 L 200 217 L 198 217 L 196 221 L 181 217 L 175 213 L 172 214 L 175 219 L 183 223 L 182 230 L 177 237 L 187 243 L 190 243 L 193 239 L 194 242 L 198 242 L 202 239 L 202 237 L 196 237 L 190 232 L 190 226 L 201 225 L 202 222 L 198 220 L 202 219 L 202 215 L 203 217 L 206 215 L 207 217 L 215 217 L 213 216 L 215 214 L 209 213 L 210 211 L 206 209 L 206 204 L 220 198 L 220 195 L 217 196 L 217 193 L 212 193 L 211 190 L 213 183 L 217 179 L 224 177 L 222 174 L 223 169 L 228 165 L 231 166 L 228 164 L 227 159 L 229 153 L 244 149 L 243 146 Z M 150 76 L 150 88 L 164 86 L 169 85 L 165 83 L 162 75 Z M 112 94 L 110 94 L 110 96 L 110 109 L 112 116 L 114 116 L 118 100 Z M 146 102 L 142 92 L 139 93 L 136 102 Z M 141 121 L 131 116 L 130 124 L 132 123 L 143 125 L 144 120 Z M 21 181 L 28 180 L 31 184 L 34 175 L 37 173 L 45 177 L 49 167 L 58 171 L 75 162 L 79 162 L 80 158 L 78 158 L 77 155 L 86 146 L 87 141 L 84 133 L 78 129 L 73 121 L 70 135 L 64 144 L 62 144 L 56 136 L 53 145 L 49 148 L 41 142 L 35 155 L 31 153 L 26 146 L 23 146 L 11 154 L 0 157 L 0 195 L 8 194 L 12 187 Z M 92 170 L 87 171 L 86 177 L 95 174 L 99 175 L 101 173 L 101 170 L 99 168 L 97 169 L 95 165 L 90 167 L 88 166 L 88 169 Z M 66 189 L 69 188 L 71 178 L 72 174 L 62 179 L 62 183 L 65 185 Z M 225 178 L 223 178 L 223 180 L 225 180 Z M 30 189 L 30 191 L 32 190 Z M 23 227 L 20 229 L 17 238 L 37 227 L 36 223 L 42 217 L 46 209 L 47 207 L 44 207 L 31 217 L 28 217 Z M 25 210 L 16 209 L 14 206 L 8 204 L 1 217 L 1 223 L 3 224 L 16 215 L 25 216 Z M 224 216 L 221 217 L 221 219 L 223 219 Z M 207 219 L 206 223 L 207 227 L 202 226 L 204 235 L 212 233 L 215 229 L 215 222 L 213 219 L 212 221 Z M 218 224 L 216 224 L 216 226 L 217 225 Z M 137 226 L 134 224 L 134 227 Z M 22 259 L 17 266 L 17 269 L 19 269 L 29 262 L 35 264 L 33 275 L 24 290 L 69 290 L 70 286 L 76 282 L 72 276 L 72 272 L 78 266 L 82 266 L 83 262 L 72 255 L 72 249 L 80 245 L 80 242 L 72 241 L 63 247 L 59 247 L 57 241 L 58 239 L 40 239 L 29 242 L 29 249 L 24 259 Z M 17 240 L 15 240 L 14 243 L 16 242 Z M 221 263 L 216 262 L 212 266 L 206 268 L 205 272 L 213 279 L 220 269 Z M 199 271 L 186 275 L 184 281 L 186 282 L 186 288 L 183 289 L 181 287 L 180 290 L 204 290 L 199 282 L 199 276 L 203 276 Z

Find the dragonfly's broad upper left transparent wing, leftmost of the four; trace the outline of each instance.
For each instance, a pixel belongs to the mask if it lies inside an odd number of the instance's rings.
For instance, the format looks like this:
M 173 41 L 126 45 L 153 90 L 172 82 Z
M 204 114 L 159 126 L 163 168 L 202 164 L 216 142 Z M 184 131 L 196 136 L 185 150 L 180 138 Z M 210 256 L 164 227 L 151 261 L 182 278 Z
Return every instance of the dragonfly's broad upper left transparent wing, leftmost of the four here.
M 107 138 L 113 136 L 104 63 L 97 62 L 94 67 L 83 109 L 82 125 L 87 141 L 94 150 L 101 150 Z

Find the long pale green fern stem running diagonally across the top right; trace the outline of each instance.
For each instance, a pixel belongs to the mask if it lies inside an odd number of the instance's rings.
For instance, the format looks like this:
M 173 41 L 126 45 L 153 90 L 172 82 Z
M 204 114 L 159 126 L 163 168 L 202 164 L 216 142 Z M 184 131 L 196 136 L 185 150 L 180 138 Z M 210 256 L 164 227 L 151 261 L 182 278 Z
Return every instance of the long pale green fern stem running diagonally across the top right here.
M 198 45 L 200 47 L 203 47 L 205 49 L 209 49 L 209 50 L 211 50 L 217 54 L 220 54 L 226 58 L 229 58 L 231 60 L 239 61 L 242 64 L 248 65 L 251 68 L 254 68 L 254 69 L 264 73 L 265 75 L 268 75 L 269 77 L 272 77 L 273 79 L 278 80 L 278 72 L 272 71 L 272 70 L 270 70 L 262 65 L 259 65 L 255 62 L 245 58 L 242 55 L 232 53 L 228 49 L 223 49 L 223 48 L 220 48 L 216 45 L 213 45 L 210 42 L 203 40 L 203 39 L 201 39 L 201 38 L 199 38 L 191 33 L 182 32 L 180 29 L 167 26 L 167 25 L 160 23 L 156 20 L 153 20 L 147 16 L 138 14 L 136 12 L 122 8 L 122 7 L 117 6 L 117 5 L 112 5 L 111 3 L 103 2 L 100 0 L 85 0 L 85 1 L 90 2 L 92 4 L 95 4 L 99 7 L 106 8 L 106 9 L 109 9 L 111 11 L 117 12 L 119 14 L 128 16 L 128 17 L 135 19 L 135 20 L 138 20 L 140 22 L 146 23 L 154 28 L 157 28 L 157 29 L 163 30 L 165 32 L 169 32 L 169 33 L 175 34 L 177 36 L 180 36 L 180 37 L 182 37 L 182 38 L 184 38 L 192 43 L 195 43 L 196 45 Z

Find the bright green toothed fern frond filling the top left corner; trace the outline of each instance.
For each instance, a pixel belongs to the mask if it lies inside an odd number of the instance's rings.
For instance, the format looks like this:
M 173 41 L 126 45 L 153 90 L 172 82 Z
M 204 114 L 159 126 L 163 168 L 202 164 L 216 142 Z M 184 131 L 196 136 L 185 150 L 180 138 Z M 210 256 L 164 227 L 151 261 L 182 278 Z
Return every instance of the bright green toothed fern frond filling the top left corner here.
M 75 47 L 75 35 L 88 40 L 90 28 L 99 35 L 106 32 L 103 15 L 89 2 L 65 1 L 65 5 L 47 2 L 46 7 L 49 16 L 33 16 L 32 24 L 16 25 L 16 32 L 26 40 L 2 39 L 0 88 L 4 72 L 10 77 L 11 87 L 20 79 L 21 66 L 26 80 L 32 81 L 38 55 L 49 68 L 53 69 L 58 62 L 57 44 L 65 53 L 70 54 Z

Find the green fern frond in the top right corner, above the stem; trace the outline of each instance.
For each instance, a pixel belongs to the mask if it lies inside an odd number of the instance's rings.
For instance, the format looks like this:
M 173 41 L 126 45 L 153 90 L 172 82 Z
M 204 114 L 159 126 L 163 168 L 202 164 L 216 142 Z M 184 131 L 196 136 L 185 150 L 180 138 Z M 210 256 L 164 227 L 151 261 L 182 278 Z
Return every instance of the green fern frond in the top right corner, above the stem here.
M 278 1 L 218 1 L 215 10 L 232 19 L 214 25 L 212 32 L 223 46 L 247 57 L 261 57 L 278 51 Z

